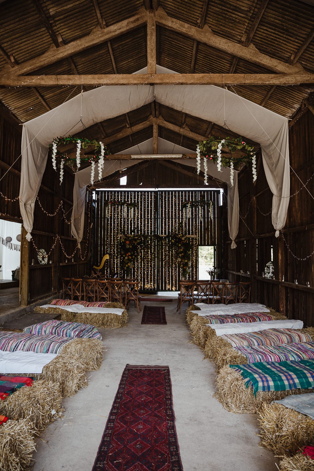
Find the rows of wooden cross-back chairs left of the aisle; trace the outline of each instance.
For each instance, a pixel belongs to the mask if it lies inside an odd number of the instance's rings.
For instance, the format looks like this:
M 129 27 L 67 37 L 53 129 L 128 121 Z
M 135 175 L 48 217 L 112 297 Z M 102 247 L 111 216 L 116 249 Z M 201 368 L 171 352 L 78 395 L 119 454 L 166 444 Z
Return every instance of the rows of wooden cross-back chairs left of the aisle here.
M 141 297 L 138 296 L 139 282 L 135 279 L 122 281 L 120 278 L 98 280 L 95 278 L 62 278 L 63 299 L 79 301 L 121 302 L 129 308 L 134 301 L 137 312 L 141 310 Z

